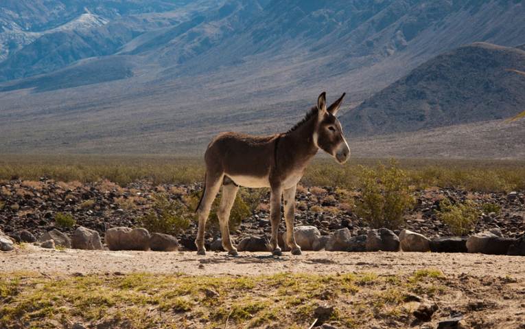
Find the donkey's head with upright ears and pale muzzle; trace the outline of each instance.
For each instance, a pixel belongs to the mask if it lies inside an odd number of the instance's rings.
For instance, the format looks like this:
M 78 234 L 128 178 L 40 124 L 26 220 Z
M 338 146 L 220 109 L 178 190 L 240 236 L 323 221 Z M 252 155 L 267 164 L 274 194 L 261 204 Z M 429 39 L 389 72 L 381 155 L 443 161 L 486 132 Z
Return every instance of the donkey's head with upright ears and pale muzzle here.
M 345 136 L 342 135 L 342 128 L 336 113 L 342 103 L 345 93 L 326 107 L 326 93 L 321 93 L 317 99 L 317 124 L 314 129 L 314 144 L 321 150 L 336 158 L 339 163 L 345 163 L 350 157 Z

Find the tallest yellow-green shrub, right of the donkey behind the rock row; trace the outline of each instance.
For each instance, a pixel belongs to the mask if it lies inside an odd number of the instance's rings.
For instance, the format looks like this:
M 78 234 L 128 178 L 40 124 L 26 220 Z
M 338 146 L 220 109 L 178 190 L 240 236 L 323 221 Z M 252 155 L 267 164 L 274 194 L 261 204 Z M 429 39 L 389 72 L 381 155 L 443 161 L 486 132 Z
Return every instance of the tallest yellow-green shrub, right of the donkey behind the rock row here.
M 380 163 L 375 170 L 361 167 L 361 171 L 358 215 L 371 227 L 397 229 L 414 204 L 406 173 L 395 161 L 388 167 Z

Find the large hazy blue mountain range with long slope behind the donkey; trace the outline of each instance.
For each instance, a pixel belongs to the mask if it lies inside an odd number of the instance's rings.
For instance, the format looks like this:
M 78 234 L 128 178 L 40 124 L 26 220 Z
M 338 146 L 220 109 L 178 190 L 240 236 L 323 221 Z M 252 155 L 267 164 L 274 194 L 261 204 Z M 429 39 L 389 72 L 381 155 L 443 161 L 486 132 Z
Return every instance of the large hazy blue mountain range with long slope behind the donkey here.
M 200 154 L 220 131 L 285 131 L 323 90 L 358 106 L 474 42 L 524 45 L 525 5 L 2 1 L 0 150 Z

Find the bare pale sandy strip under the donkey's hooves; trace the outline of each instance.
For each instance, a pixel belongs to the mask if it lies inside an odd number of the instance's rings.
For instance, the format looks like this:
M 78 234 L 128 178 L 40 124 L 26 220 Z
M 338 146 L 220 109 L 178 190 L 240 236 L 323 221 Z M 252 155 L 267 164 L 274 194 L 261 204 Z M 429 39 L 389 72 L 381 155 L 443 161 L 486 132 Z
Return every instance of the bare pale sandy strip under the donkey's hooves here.
M 440 269 L 445 274 L 525 278 L 525 258 L 469 253 L 346 253 L 305 251 L 301 256 L 283 253 L 226 253 L 154 251 L 49 250 L 28 245 L 0 253 L 0 271 L 40 273 L 185 273 L 189 275 L 259 275 L 280 272 L 304 273 L 410 273 L 417 269 Z

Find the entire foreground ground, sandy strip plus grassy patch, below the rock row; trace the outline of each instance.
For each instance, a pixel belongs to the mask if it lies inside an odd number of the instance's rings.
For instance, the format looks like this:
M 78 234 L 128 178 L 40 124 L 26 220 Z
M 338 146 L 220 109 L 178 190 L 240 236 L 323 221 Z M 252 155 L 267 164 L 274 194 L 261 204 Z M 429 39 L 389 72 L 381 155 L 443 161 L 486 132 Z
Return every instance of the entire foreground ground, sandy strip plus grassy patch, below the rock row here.
M 525 328 L 519 256 L 306 251 L 229 257 L 23 245 L 0 253 L 2 282 L 8 304 L 0 307 L 1 328 L 71 328 L 75 322 L 86 328 L 308 328 L 325 304 L 335 309 L 327 321 L 336 328 L 430 329 L 456 313 L 463 320 L 454 328 Z M 414 294 L 421 299 L 414 302 Z M 428 322 L 414 315 L 424 300 L 437 307 Z M 53 317 L 43 317 L 46 305 Z

